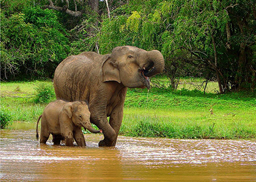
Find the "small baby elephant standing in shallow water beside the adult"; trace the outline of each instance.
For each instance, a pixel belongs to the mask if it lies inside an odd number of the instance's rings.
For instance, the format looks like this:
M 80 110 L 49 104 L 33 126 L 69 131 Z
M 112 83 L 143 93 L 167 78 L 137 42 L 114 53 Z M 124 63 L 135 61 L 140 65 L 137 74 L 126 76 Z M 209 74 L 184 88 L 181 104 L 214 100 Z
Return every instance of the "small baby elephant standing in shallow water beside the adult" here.
M 40 143 L 46 143 L 52 134 L 54 145 L 59 145 L 64 139 L 66 146 L 73 146 L 74 138 L 78 146 L 85 146 L 81 127 L 94 133 L 102 132 L 91 126 L 90 115 L 88 105 L 83 101 L 73 103 L 63 100 L 54 101 L 47 105 L 37 120 L 36 138 L 38 140 L 38 123 L 42 117 Z

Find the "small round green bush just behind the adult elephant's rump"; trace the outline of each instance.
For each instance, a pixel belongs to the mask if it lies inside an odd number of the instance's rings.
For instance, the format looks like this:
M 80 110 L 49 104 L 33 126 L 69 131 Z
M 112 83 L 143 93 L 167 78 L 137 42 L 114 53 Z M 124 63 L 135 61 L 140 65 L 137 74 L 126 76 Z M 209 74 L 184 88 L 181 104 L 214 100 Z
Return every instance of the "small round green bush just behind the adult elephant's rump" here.
M 49 103 L 55 97 L 54 88 L 52 85 L 39 84 L 36 86 L 35 90 L 35 103 Z

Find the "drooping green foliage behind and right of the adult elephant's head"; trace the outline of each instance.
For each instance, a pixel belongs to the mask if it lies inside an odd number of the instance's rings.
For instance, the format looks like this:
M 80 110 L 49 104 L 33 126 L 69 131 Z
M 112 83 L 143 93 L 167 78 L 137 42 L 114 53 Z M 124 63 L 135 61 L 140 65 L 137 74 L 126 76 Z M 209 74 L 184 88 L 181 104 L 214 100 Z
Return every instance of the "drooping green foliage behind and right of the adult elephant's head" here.
M 113 12 L 112 20 L 103 20 L 100 52 L 126 44 L 157 49 L 164 55 L 165 70 L 175 89 L 176 78 L 193 75 L 219 79 L 225 91 L 253 90 L 254 7 L 255 1 L 130 1 Z

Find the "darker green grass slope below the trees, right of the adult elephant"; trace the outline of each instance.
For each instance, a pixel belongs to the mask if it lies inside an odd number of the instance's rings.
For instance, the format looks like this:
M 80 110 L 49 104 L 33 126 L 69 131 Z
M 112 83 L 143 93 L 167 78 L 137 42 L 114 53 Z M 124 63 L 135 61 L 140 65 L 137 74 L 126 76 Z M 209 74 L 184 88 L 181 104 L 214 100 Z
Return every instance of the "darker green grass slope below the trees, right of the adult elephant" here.
M 249 109 L 256 111 L 255 93 L 204 94 L 198 90 L 129 89 L 125 107 L 128 108 L 180 108 L 217 110 Z

